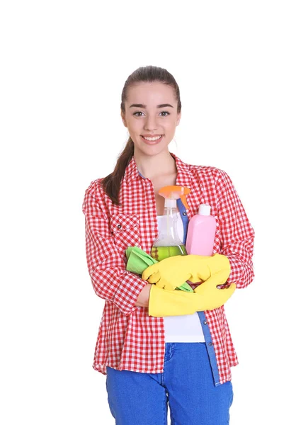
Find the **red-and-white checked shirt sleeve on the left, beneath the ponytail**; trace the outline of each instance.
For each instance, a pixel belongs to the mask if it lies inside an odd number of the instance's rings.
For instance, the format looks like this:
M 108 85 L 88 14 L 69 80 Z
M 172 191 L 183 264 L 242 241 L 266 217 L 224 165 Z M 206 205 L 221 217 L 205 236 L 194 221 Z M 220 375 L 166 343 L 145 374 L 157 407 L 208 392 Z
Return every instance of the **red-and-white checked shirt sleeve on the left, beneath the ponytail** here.
M 86 261 L 93 289 L 98 297 L 113 302 L 125 315 L 137 309 L 135 302 L 147 284 L 125 269 L 125 261 L 115 246 L 107 211 L 98 203 L 92 182 L 86 190 L 82 210 L 86 219 Z

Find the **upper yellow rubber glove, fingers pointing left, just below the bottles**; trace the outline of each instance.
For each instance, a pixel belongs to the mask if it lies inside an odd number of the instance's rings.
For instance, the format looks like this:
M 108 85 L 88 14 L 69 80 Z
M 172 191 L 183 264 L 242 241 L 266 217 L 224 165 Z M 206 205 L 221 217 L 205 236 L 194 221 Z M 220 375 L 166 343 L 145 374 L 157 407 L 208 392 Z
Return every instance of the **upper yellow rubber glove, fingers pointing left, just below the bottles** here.
M 226 282 L 230 274 L 230 263 L 227 256 L 222 254 L 213 256 L 177 255 L 147 267 L 142 273 L 142 279 L 149 283 L 156 283 L 158 288 L 174 290 L 186 280 L 190 280 L 192 283 L 204 282 L 219 272 L 223 272 L 224 282 Z

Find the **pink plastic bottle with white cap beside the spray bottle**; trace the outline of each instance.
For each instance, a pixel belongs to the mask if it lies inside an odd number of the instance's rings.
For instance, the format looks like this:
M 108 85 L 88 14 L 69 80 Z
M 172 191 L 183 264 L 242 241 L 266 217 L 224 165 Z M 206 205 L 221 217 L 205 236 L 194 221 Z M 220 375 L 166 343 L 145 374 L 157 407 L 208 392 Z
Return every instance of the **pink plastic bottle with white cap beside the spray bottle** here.
M 186 251 L 188 254 L 212 256 L 216 232 L 215 217 L 210 215 L 210 205 L 201 204 L 198 214 L 188 223 Z

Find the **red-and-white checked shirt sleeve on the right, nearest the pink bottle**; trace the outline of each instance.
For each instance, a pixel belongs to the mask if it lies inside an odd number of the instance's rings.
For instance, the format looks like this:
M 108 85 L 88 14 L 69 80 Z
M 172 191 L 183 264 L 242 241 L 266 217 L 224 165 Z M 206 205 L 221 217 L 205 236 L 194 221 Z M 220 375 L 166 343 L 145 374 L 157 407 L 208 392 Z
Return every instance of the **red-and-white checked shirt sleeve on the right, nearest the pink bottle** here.
M 254 277 L 254 231 L 231 179 L 220 170 L 217 180 L 217 215 L 221 232 L 221 254 L 228 257 L 231 273 L 227 283 L 246 288 Z

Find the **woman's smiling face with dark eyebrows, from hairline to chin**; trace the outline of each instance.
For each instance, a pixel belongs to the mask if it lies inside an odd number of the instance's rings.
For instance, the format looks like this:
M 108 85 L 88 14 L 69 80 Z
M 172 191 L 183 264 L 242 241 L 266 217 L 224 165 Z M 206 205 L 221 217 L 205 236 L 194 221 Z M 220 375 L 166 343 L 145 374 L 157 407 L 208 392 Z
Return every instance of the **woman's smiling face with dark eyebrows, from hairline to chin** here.
M 135 154 L 168 152 L 181 119 L 177 106 L 171 86 L 157 81 L 130 86 L 121 116 L 135 144 Z

